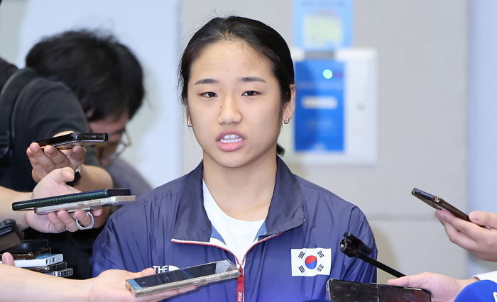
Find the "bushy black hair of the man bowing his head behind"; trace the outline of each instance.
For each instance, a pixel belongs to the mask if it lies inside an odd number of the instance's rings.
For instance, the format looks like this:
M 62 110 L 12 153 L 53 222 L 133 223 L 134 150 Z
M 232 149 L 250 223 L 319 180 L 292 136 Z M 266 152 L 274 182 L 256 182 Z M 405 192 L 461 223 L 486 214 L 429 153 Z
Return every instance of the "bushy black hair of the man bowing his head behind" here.
M 131 119 L 143 102 L 143 72 L 135 55 L 114 36 L 70 30 L 44 38 L 26 57 L 26 66 L 75 92 L 89 122 Z

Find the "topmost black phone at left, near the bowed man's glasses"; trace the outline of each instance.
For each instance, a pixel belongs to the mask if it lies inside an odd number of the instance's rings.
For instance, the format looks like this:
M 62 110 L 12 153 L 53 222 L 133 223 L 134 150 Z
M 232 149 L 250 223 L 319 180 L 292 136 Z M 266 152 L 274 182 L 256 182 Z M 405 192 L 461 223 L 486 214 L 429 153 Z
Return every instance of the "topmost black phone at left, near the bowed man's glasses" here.
M 98 142 L 107 142 L 109 135 L 107 133 L 80 133 L 73 132 L 65 135 L 55 136 L 53 138 L 45 138 L 38 140 L 40 147 L 51 145 L 60 150 L 71 149 L 74 146 L 89 146 L 95 145 Z

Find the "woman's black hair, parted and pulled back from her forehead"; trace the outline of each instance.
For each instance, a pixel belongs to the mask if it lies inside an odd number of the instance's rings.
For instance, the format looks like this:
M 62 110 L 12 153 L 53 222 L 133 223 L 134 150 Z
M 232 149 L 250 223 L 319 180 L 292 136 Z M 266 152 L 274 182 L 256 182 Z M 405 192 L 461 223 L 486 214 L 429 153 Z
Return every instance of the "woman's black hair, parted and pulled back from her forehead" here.
M 239 16 L 213 18 L 192 36 L 185 47 L 180 62 L 181 101 L 187 105 L 188 80 L 193 63 L 202 51 L 222 40 L 242 41 L 266 57 L 271 64 L 271 70 L 280 85 L 281 102 L 291 99 L 290 86 L 295 84 L 293 61 L 288 45 L 283 37 L 273 28 L 261 21 Z M 277 146 L 278 155 L 285 150 Z

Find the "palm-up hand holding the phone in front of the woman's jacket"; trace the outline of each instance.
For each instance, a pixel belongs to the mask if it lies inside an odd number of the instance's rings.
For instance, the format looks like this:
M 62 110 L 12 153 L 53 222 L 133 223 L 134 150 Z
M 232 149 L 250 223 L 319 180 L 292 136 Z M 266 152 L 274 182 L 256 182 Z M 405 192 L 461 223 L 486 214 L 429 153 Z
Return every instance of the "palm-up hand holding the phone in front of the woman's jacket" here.
M 175 296 L 178 293 L 185 293 L 196 289 L 195 286 L 190 286 L 185 289 L 153 293 L 140 298 L 136 298 L 129 289 L 126 289 L 126 284 L 124 283 L 126 279 L 139 278 L 151 274 L 155 274 L 155 270 L 152 268 L 144 269 L 139 273 L 131 273 L 119 269 L 104 271 L 96 278 L 89 279 L 92 282 L 89 291 L 89 301 L 160 301 Z

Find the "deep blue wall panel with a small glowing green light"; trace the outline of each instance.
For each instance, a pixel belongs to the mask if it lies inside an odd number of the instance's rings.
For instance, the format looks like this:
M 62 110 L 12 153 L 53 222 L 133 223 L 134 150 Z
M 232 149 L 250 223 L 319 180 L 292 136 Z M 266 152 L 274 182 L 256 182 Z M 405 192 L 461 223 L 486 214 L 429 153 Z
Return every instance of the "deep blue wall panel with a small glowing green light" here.
M 344 63 L 295 64 L 295 151 L 344 151 Z

